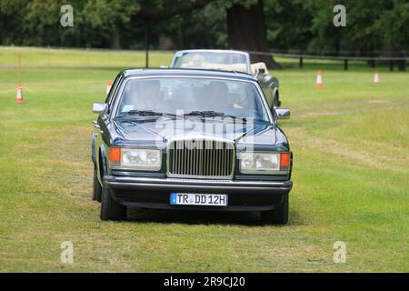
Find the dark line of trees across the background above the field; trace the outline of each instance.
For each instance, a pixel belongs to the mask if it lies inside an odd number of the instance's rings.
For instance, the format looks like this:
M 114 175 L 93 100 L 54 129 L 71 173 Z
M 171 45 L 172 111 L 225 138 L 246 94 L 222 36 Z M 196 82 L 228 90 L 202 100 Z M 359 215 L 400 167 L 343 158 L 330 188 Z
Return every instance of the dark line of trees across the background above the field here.
M 152 49 L 407 54 L 407 0 L 343 0 L 346 26 L 335 27 L 333 8 L 339 2 L 70 0 L 74 25 L 63 27 L 60 18 L 65 1 L 2 0 L 0 45 L 144 49 L 148 32 Z

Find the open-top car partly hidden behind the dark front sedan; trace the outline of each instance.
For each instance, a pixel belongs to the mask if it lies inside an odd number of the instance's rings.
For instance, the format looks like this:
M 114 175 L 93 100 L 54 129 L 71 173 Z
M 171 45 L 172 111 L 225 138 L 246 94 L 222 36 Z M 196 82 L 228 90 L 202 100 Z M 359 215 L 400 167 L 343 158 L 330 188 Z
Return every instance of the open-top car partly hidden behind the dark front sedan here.
M 215 69 L 254 75 L 264 91 L 268 104 L 276 107 L 281 105 L 278 79 L 268 73 L 264 63 L 252 64 L 250 54 L 246 52 L 221 49 L 178 51 L 170 67 Z

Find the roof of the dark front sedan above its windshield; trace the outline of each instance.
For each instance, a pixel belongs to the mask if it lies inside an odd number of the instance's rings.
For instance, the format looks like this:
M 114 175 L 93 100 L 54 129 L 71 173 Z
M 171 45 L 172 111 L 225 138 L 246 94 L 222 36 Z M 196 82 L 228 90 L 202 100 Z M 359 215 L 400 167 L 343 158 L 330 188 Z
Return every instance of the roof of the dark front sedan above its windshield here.
M 129 76 L 197 76 L 197 77 L 220 77 L 256 81 L 254 75 L 236 71 L 202 70 L 185 68 L 159 68 L 159 69 L 126 69 L 122 71 L 125 77 Z

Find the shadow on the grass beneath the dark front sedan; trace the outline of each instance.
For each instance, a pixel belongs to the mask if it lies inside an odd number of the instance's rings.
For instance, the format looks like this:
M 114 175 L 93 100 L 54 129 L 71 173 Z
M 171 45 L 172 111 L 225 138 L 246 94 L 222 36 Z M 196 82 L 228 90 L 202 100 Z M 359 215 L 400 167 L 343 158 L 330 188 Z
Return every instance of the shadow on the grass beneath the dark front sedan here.
M 290 210 L 289 226 L 309 225 L 307 217 L 300 216 Z M 140 223 L 164 223 L 185 225 L 238 225 L 269 226 L 260 220 L 259 212 L 223 212 L 223 211 L 188 211 L 188 210 L 156 210 L 129 208 L 128 221 Z

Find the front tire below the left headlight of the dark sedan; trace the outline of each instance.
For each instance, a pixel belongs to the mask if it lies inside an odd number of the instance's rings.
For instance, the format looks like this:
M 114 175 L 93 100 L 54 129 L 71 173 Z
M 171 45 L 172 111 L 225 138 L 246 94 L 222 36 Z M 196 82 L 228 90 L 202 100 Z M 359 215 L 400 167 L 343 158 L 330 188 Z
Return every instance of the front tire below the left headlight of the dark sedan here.
M 121 221 L 126 219 L 126 206 L 116 203 L 107 186 L 102 187 L 100 216 L 102 220 Z

